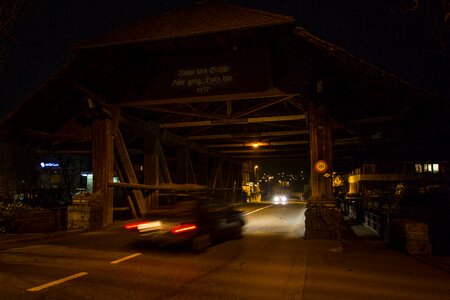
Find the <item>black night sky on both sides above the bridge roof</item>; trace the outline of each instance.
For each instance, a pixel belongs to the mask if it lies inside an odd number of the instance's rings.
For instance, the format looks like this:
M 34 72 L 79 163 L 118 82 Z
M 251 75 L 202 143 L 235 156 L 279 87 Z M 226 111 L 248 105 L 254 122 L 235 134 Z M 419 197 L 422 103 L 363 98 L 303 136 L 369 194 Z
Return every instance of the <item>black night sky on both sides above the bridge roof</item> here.
M 16 42 L 8 44 L 7 60 L 0 69 L 0 118 L 69 61 L 71 45 L 191 2 L 34 0 L 15 24 Z M 429 13 L 408 10 L 412 0 L 222 2 L 293 16 L 298 26 L 312 34 L 450 98 L 449 56 L 441 55 L 432 37 Z

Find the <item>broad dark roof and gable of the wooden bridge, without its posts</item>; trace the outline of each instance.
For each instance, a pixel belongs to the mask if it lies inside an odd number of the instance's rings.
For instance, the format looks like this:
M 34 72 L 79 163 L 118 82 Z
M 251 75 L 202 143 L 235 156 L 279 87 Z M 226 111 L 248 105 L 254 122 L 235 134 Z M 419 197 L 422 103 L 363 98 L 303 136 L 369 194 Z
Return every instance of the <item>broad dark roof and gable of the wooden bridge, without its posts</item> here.
M 293 22 L 289 16 L 207 3 L 78 44 L 74 58 L 2 121 L 0 140 L 86 153 L 89 118 L 109 118 L 118 107 L 131 148 L 142 149 L 139 135 L 152 128 L 166 142 L 179 140 L 230 159 L 298 158 L 309 155 L 310 103 L 328 107 L 334 118 L 336 168 L 380 159 L 388 148 L 400 152 L 420 143 L 432 149 L 439 139 L 427 135 L 431 130 L 448 136 L 449 109 L 438 97 Z M 145 91 L 149 80 L 158 83 L 148 70 L 164 77 L 166 65 L 208 57 L 232 60 L 267 82 L 257 86 L 254 76 L 247 76 L 247 89 L 206 95 Z M 257 72 L 245 69 L 252 60 L 264 62 L 252 65 Z M 319 80 L 323 97 L 311 98 Z M 159 97 L 149 97 L 155 93 Z M 250 146 L 255 141 L 258 149 Z M 440 157 L 447 153 L 435 149 Z

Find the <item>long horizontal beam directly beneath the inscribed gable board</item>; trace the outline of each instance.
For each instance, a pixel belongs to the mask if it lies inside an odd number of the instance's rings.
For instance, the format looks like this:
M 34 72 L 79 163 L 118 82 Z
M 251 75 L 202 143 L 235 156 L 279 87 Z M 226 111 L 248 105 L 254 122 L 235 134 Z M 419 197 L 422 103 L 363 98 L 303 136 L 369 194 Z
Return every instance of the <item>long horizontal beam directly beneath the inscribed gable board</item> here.
M 212 95 L 212 96 L 198 96 L 198 97 L 184 97 L 171 99 L 157 99 L 157 100 L 140 100 L 140 101 L 126 101 L 120 103 L 121 107 L 145 107 L 153 105 L 170 105 L 177 103 L 206 103 L 206 102 L 223 102 L 223 101 L 239 101 L 239 100 L 253 100 L 273 97 L 286 97 L 287 94 L 275 88 L 252 93 L 238 93 L 226 95 Z

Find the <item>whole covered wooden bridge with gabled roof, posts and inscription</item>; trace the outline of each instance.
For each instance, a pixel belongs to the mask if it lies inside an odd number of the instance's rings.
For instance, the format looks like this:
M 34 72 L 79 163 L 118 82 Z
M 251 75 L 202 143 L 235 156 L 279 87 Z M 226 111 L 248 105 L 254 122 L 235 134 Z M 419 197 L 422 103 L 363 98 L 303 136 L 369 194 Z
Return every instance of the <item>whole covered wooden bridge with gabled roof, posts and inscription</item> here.
M 424 101 L 438 103 L 292 17 L 192 4 L 76 45 L 1 123 L 0 139 L 90 155 L 107 225 L 115 189 L 128 192 L 135 217 L 163 190 L 240 202 L 242 163 L 254 159 L 306 158 L 312 200 L 332 200 L 331 178 L 314 163 L 331 174 L 380 150 L 396 159 L 427 139 L 420 124 L 432 116 L 415 110 Z

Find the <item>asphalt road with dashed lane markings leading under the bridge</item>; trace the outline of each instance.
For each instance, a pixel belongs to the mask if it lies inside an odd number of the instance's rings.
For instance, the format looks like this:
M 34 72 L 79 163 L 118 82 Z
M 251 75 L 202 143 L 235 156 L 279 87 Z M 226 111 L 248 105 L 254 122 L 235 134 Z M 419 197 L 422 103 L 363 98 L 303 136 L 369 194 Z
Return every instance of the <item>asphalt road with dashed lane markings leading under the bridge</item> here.
M 450 275 L 376 243 L 304 240 L 304 205 L 247 211 L 204 253 L 121 228 L 0 251 L 0 299 L 450 299 Z

